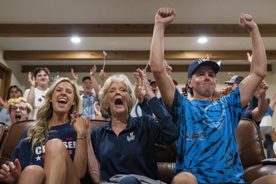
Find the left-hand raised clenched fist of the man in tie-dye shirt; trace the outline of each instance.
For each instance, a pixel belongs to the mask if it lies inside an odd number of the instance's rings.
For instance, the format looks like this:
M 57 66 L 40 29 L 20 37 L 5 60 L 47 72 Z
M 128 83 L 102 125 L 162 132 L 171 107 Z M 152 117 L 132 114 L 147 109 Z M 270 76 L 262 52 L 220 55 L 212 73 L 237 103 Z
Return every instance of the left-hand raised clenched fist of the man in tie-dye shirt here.
M 173 19 L 175 18 L 175 16 L 176 16 L 175 9 L 160 8 L 156 13 L 155 22 L 163 24 L 164 26 L 167 26 L 171 22 L 173 22 Z

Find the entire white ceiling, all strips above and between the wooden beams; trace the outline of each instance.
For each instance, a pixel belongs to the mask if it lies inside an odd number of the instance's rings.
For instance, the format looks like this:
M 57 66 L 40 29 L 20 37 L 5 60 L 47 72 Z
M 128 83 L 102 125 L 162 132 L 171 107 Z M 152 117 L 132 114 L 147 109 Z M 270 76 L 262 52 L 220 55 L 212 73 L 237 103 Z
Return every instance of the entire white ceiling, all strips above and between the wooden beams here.
M 275 24 L 276 1 L 259 0 L 1 0 L 0 24 L 153 24 L 160 7 L 174 7 L 177 24 L 238 24 L 239 14 L 251 14 L 257 24 Z M 150 50 L 151 37 L 0 37 L 2 50 Z M 250 50 L 250 37 L 165 37 L 165 50 Z M 276 37 L 263 37 L 267 50 L 276 50 Z M 24 65 L 89 64 L 89 61 L 17 61 Z M 95 61 L 95 64 L 101 61 Z M 147 61 L 139 61 L 146 63 Z M 112 61 L 109 64 L 140 64 Z M 246 64 L 225 61 L 227 64 Z M 270 61 L 275 63 L 275 61 Z M 142 64 L 141 63 L 141 64 Z M 180 61 L 170 61 L 179 64 Z M 187 64 L 187 62 L 185 62 Z

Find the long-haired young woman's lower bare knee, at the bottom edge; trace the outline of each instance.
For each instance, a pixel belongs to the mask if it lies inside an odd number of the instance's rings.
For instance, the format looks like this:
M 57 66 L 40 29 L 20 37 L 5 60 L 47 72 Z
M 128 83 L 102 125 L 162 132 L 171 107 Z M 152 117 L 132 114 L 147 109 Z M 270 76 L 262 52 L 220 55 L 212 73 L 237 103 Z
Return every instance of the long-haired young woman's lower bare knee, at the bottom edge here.
M 44 170 L 41 166 L 30 165 L 24 168 L 22 171 L 18 183 L 19 184 L 41 184 L 44 180 Z

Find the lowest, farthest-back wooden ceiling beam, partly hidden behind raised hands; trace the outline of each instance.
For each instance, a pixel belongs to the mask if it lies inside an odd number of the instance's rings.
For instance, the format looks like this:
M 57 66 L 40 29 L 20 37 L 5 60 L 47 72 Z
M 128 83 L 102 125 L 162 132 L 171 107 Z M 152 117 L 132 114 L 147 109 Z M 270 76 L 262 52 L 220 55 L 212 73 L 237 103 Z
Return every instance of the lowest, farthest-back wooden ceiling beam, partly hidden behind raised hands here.
M 173 68 L 173 72 L 187 72 L 189 65 L 170 65 Z M 22 66 L 22 73 L 26 72 L 32 72 L 36 68 L 41 66 L 29 66 L 29 65 L 23 65 Z M 74 69 L 74 72 L 89 72 L 89 68 L 92 68 L 93 66 L 87 66 L 87 65 L 46 65 L 44 67 L 47 67 L 51 72 L 70 72 L 71 68 Z M 97 68 L 102 68 L 102 65 L 97 65 Z M 145 65 L 106 65 L 104 68 L 105 72 L 134 72 L 138 68 L 145 68 Z M 221 65 L 221 72 L 249 72 L 250 71 L 250 65 L 248 64 L 241 64 L 241 65 Z M 267 65 L 267 71 L 271 71 L 271 64 Z M 147 68 L 147 72 L 151 72 L 150 67 Z

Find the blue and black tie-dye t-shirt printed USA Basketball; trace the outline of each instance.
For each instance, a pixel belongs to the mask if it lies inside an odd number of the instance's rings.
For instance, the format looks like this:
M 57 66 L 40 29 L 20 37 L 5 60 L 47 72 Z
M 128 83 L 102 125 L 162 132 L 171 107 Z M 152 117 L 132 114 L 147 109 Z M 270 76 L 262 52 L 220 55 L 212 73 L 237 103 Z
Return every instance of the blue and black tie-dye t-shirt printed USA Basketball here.
M 175 174 L 189 172 L 199 183 L 244 183 L 235 130 L 245 112 L 239 87 L 216 102 L 193 100 L 175 91 L 179 131 Z

